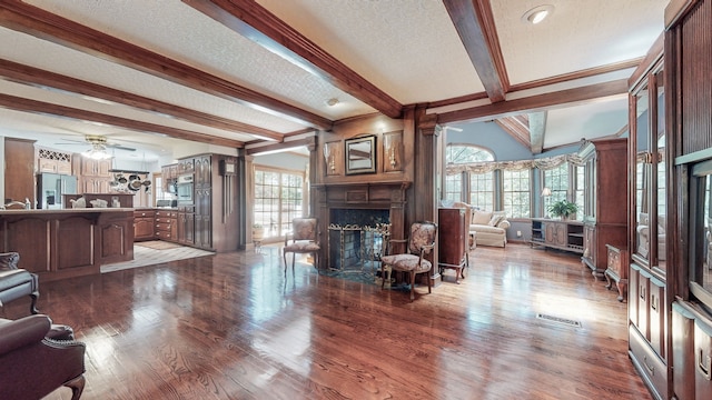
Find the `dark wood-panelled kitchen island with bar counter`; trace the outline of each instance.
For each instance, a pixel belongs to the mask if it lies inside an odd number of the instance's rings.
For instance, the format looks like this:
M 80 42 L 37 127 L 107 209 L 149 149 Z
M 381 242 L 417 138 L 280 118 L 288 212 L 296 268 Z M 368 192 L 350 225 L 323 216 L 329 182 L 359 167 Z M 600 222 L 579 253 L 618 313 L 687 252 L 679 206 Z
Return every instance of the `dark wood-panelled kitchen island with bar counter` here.
M 40 281 L 100 273 L 134 259 L 134 209 L 0 211 L 0 252 L 20 253 L 19 267 Z

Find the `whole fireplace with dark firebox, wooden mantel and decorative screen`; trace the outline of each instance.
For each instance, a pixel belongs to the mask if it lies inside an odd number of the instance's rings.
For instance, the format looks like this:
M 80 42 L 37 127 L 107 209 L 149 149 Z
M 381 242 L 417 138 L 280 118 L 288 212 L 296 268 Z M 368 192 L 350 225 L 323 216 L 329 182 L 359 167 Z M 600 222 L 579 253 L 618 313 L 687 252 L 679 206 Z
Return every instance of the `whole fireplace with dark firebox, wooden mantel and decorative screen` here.
M 389 237 L 404 238 L 406 181 L 315 184 L 319 229 L 326 242 L 319 268 L 360 268 L 364 256 L 377 252 L 382 224 Z M 334 236 L 334 239 L 333 239 Z M 344 248 L 333 250 L 337 242 Z M 380 247 L 383 248 L 383 242 Z M 328 249 L 328 250 L 327 250 Z M 342 250 L 344 256 L 342 257 Z

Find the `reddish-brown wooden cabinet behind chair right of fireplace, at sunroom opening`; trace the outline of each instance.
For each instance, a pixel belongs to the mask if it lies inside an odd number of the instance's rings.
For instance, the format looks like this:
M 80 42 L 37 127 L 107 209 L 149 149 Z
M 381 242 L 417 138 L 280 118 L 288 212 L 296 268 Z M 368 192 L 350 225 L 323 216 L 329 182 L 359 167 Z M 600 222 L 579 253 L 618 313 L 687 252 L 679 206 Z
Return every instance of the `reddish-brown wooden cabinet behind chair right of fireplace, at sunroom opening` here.
M 469 234 L 469 227 L 465 227 L 465 209 L 438 209 L 438 267 L 455 270 L 455 282 L 465 278 L 464 269 L 467 261 L 467 246 L 465 238 Z

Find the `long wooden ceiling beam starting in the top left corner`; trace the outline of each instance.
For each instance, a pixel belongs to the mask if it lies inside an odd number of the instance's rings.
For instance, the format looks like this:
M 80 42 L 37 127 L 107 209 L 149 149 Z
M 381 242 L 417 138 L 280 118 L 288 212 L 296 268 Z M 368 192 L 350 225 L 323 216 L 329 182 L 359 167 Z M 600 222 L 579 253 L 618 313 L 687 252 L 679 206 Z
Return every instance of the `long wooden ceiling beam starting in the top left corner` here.
M 0 26 L 318 129 L 332 121 L 197 68 L 18 0 L 0 3 Z

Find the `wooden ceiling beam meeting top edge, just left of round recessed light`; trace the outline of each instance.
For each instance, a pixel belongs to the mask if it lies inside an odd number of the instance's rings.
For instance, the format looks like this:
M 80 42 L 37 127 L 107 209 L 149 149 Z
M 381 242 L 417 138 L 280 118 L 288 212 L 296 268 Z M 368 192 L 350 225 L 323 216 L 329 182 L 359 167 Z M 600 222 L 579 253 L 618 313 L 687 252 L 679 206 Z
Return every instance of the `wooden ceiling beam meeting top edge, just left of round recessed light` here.
M 443 0 L 443 3 L 490 101 L 504 101 L 510 82 L 490 0 Z

